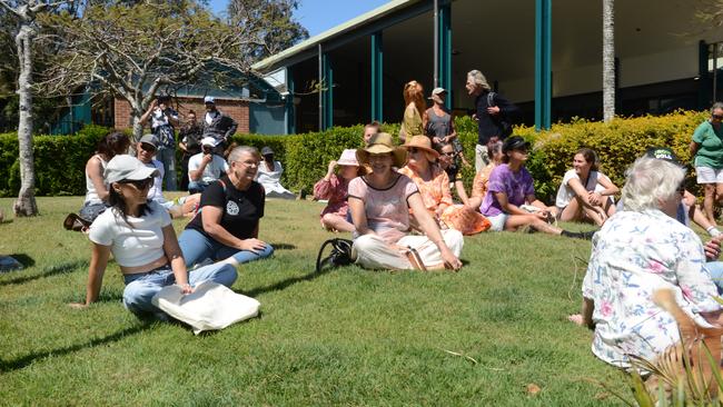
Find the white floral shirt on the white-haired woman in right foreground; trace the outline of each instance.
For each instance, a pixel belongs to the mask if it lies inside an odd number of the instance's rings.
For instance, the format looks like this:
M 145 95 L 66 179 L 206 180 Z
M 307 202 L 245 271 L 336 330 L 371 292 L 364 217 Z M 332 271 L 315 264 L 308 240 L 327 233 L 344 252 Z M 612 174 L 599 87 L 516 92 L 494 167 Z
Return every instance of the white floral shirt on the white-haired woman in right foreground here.
M 595 304 L 593 353 L 630 368 L 627 355 L 648 360 L 680 339 L 673 317 L 653 304 L 657 288 L 668 287 L 697 324 L 697 312 L 720 308 L 715 285 L 703 268 L 701 239 L 660 210 L 622 211 L 593 238 L 583 280 L 583 297 Z

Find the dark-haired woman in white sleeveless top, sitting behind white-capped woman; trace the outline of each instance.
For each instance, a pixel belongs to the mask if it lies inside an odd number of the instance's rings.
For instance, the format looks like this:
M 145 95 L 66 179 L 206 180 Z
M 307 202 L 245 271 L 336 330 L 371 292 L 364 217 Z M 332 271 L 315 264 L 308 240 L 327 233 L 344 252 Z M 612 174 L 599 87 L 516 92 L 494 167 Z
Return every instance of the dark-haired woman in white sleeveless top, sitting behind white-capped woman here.
M 128 152 L 130 140 L 120 131 L 108 133 L 98 142 L 96 153 L 86 163 L 86 201 L 80 208 L 80 217 L 92 222 L 108 207 L 108 181 L 103 171 L 108 161 L 116 155 Z

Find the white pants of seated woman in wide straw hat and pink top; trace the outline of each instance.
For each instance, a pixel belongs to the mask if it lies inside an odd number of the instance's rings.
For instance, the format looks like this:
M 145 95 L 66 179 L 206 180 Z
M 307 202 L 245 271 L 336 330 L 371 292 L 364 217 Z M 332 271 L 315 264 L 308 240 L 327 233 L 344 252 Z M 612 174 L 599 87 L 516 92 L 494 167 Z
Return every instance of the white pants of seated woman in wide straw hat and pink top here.
M 442 238 L 452 250 L 452 252 L 459 257 L 462 247 L 465 241 L 462 232 L 455 229 L 442 230 Z M 444 264 L 442 252 L 437 246 L 429 240 L 426 236 L 405 236 L 397 246 L 410 247 L 419 254 L 422 262 L 425 267 L 434 268 Z M 384 239 L 375 235 L 364 235 L 354 239 L 354 251 L 356 251 L 356 264 L 370 269 L 396 269 L 409 270 L 413 269 L 412 264 L 406 255 L 399 250 L 392 248 Z

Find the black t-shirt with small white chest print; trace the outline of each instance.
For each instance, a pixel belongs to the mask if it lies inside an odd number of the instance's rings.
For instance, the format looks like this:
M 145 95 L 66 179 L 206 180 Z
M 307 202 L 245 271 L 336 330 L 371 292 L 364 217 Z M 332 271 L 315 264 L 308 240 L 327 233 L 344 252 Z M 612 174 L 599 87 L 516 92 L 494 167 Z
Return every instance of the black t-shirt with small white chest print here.
M 224 185 L 226 185 L 226 190 L 224 190 Z M 222 208 L 224 215 L 220 225 L 224 229 L 239 239 L 249 239 L 254 237 L 254 230 L 256 230 L 259 219 L 264 217 L 265 198 L 266 193 L 260 183 L 252 181 L 247 190 L 240 191 L 234 187 L 228 176 L 224 176 L 220 181 L 211 182 L 204 190 L 200 208 L 201 210 L 206 206 Z M 196 229 L 208 236 L 204 231 L 200 214 L 186 228 Z

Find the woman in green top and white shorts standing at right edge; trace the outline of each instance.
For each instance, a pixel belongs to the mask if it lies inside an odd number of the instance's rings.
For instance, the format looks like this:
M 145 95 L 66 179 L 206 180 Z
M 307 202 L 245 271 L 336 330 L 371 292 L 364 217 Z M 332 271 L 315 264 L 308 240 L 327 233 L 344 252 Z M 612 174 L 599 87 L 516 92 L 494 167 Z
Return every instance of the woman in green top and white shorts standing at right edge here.
M 705 197 L 703 211 L 715 225 L 715 204 L 723 202 L 723 103 L 711 107 L 711 118 L 702 122 L 693 133 L 691 157 L 695 157 L 697 183 L 703 185 Z

